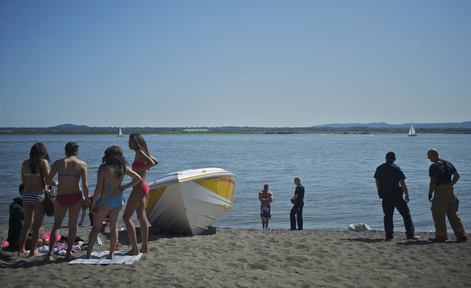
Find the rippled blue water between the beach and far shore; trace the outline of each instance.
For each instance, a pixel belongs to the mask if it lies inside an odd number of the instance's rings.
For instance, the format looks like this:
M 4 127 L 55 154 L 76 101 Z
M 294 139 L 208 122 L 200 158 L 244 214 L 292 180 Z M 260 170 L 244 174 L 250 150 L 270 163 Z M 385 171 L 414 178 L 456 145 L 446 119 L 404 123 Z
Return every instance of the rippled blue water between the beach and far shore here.
M 144 135 L 149 152 L 160 164 L 147 172 L 147 181 L 185 169 L 219 167 L 237 177 L 233 210 L 214 226 L 258 228 L 260 202 L 258 192 L 269 184 L 274 195 L 271 228 L 288 229 L 289 199 L 294 194 L 294 177 L 301 178 L 306 189 L 303 211 L 305 229 L 347 229 L 364 222 L 383 230 L 381 200 L 374 184 L 374 171 L 384 162 L 388 151 L 396 153 L 406 175 L 409 207 L 416 231 L 435 230 L 427 199 L 430 178 L 427 150 L 439 149 L 440 156 L 452 162 L 461 175 L 455 185 L 460 199 L 459 215 L 463 224 L 471 223 L 471 135 L 421 134 L 291 134 L 291 135 Z M 68 141 L 79 144 L 79 159 L 88 164 L 89 190 L 93 193 L 96 173 L 105 149 L 123 148 L 131 163 L 134 151 L 128 137 L 115 135 L 0 135 L 0 225 L 8 225 L 8 205 L 18 195 L 21 163 L 32 145 L 43 143 L 52 161 L 64 157 Z M 57 180 L 57 178 L 56 178 Z M 125 178 L 124 183 L 130 181 Z M 130 189 L 124 192 L 129 196 Z M 124 211 L 124 209 L 123 209 Z M 135 218 L 135 216 L 134 216 Z M 52 225 L 53 218 L 46 217 Z M 66 222 L 64 222 L 66 223 Z M 88 216 L 85 223 L 89 224 Z M 120 222 L 120 225 L 123 225 Z M 404 231 L 402 218 L 395 212 L 396 231 Z M 448 223 L 447 223 L 448 225 Z M 451 231 L 448 226 L 448 230 Z

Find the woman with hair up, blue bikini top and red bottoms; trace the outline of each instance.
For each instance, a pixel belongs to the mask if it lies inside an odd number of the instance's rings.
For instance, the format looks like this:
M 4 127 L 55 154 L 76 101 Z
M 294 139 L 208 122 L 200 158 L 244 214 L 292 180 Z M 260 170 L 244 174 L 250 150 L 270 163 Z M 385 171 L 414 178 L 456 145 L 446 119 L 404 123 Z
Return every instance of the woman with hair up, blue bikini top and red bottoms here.
M 52 227 L 51 237 L 49 239 L 49 253 L 46 260 L 52 257 L 52 251 L 56 245 L 60 228 L 64 222 L 65 213 L 69 210 L 69 234 L 67 235 L 67 253 L 65 259 L 72 258 L 72 247 L 77 235 L 77 219 L 82 208 L 83 195 L 88 198 L 87 184 L 87 163 L 76 158 L 79 146 L 75 142 L 69 142 L 65 145 L 65 158 L 55 161 L 51 165 L 46 183 L 51 185 L 54 176 L 58 175 L 59 184 L 57 185 L 56 203 L 54 204 L 54 226 Z M 82 186 L 80 187 L 80 178 Z M 84 203 L 88 208 L 89 203 Z M 85 208 L 85 209 L 86 209 Z

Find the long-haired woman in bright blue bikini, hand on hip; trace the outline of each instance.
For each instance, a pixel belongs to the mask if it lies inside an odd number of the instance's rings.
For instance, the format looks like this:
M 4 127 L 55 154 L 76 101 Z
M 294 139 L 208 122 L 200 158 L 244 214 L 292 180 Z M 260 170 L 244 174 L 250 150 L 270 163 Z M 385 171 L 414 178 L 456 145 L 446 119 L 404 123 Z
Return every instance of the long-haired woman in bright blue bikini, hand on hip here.
M 107 258 L 114 259 L 114 247 L 118 241 L 118 218 L 124 201 L 122 191 L 139 184 L 142 178 L 138 173 L 127 167 L 128 162 L 122 155 L 122 149 L 118 146 L 106 148 L 105 156 L 102 158 L 102 164 L 97 172 L 97 187 L 91 203 L 91 211 L 95 214 L 93 226 L 89 235 L 89 246 L 87 249 L 87 259 L 91 258 L 97 235 L 100 231 L 106 214 L 110 213 L 110 253 Z M 124 186 L 121 181 L 124 175 L 132 178 L 132 181 Z

